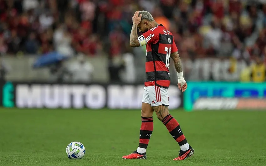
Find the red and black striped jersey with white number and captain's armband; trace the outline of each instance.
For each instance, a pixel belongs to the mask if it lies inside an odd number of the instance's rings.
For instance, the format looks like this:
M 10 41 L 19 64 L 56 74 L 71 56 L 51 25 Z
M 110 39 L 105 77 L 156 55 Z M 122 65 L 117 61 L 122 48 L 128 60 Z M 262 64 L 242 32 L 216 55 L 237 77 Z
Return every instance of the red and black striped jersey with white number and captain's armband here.
M 178 50 L 173 34 L 160 24 L 142 34 L 138 40 L 141 46 L 146 44 L 145 86 L 168 88 L 170 54 Z

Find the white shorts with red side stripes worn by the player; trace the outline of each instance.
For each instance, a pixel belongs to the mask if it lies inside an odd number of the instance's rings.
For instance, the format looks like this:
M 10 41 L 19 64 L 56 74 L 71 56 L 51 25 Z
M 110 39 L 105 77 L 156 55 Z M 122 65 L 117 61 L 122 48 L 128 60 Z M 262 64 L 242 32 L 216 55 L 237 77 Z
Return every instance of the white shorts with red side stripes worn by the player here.
M 142 102 L 151 106 L 169 106 L 168 89 L 156 85 L 145 86 Z

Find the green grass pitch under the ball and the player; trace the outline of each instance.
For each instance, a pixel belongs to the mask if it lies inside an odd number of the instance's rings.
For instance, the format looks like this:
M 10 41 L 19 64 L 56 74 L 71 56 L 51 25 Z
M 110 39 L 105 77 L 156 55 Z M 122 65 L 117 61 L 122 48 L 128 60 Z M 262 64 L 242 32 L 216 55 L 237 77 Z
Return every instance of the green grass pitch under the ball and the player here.
M 266 112 L 171 110 L 193 157 L 173 161 L 179 146 L 154 114 L 147 160 L 123 160 L 136 150 L 137 110 L 0 109 L 0 165 L 266 165 Z M 84 144 L 83 159 L 70 160 L 66 146 Z

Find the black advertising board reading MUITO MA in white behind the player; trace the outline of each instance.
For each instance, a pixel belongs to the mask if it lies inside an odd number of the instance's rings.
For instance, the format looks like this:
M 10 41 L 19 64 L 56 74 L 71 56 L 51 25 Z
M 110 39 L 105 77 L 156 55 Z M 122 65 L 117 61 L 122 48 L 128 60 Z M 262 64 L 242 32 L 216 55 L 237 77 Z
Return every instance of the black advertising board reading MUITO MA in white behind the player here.
M 1 105 L 18 108 L 141 109 L 144 85 L 5 82 Z M 169 87 L 169 109 L 182 107 L 182 93 Z

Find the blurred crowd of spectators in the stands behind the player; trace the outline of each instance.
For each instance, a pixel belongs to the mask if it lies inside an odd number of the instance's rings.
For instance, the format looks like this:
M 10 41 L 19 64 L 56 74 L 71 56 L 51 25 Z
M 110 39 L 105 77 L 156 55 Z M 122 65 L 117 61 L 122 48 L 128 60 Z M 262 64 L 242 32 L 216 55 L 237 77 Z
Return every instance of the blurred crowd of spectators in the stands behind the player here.
M 265 60 L 263 0 L 0 0 L 0 53 L 125 55 L 130 65 L 131 55 L 145 51 L 129 48 L 136 10 L 174 34 L 183 59 Z M 114 64 L 116 77 L 123 64 Z

